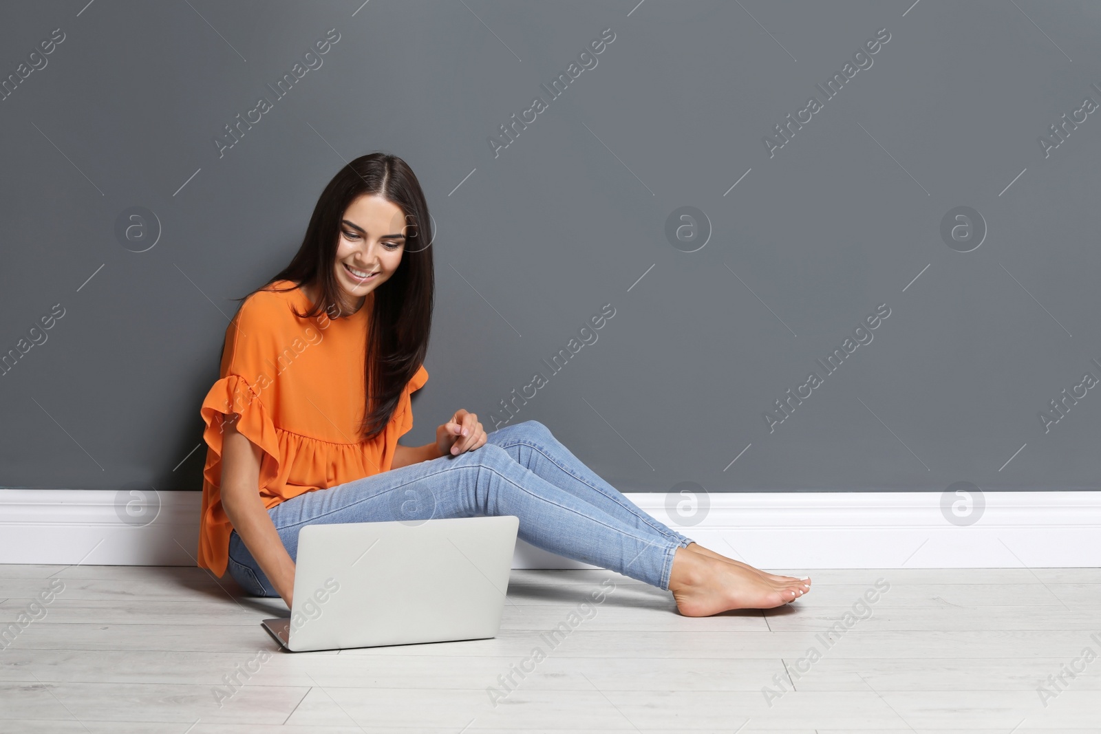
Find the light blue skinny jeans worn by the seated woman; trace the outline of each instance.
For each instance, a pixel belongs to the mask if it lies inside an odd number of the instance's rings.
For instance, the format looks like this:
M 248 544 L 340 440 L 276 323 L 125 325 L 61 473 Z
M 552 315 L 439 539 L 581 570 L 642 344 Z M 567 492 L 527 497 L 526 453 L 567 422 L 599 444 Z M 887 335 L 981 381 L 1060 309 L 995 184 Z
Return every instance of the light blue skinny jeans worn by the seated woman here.
M 600 479 L 535 420 L 494 430 L 472 451 L 299 494 L 268 514 L 291 558 L 298 530 L 313 523 L 515 515 L 524 541 L 663 590 L 676 549 L 691 543 Z M 237 530 L 228 569 L 246 592 L 279 596 Z

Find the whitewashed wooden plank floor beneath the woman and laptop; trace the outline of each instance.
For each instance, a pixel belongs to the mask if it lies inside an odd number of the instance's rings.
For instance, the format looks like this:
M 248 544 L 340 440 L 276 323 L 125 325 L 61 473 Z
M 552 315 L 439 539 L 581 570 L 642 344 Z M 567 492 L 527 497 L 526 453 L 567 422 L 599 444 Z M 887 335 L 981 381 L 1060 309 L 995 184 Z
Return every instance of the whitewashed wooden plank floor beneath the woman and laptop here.
M 0 632 L 64 582 L 0 649 L 0 732 L 1101 732 L 1101 570 L 811 576 L 789 607 L 688 618 L 610 571 L 515 570 L 494 639 L 287 654 L 259 624 L 282 602 L 228 576 L 0 566 Z M 563 622 L 557 646 L 539 636 Z

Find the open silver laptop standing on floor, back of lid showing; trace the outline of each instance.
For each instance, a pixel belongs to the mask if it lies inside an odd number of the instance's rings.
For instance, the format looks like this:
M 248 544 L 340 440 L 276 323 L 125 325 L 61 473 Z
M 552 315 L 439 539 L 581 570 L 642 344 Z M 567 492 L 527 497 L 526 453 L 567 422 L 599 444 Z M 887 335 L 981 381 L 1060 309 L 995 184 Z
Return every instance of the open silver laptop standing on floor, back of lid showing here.
M 495 637 L 520 519 L 307 525 L 290 617 L 264 620 L 288 650 Z

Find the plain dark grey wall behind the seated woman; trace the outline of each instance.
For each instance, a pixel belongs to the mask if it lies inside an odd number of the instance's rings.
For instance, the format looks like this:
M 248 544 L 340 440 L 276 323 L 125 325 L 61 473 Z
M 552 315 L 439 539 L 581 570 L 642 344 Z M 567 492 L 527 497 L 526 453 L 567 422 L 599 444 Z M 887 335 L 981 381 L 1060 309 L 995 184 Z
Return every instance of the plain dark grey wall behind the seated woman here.
M 406 443 L 460 407 L 492 430 L 541 372 L 512 420 L 623 491 L 1098 489 L 1101 396 L 1076 385 L 1101 377 L 1101 112 L 1076 110 L 1101 102 L 1101 3 L 24 2 L 0 74 L 55 29 L 0 101 L 4 486 L 198 490 L 228 298 L 290 260 L 344 161 L 384 150 L 437 232 Z M 595 67 L 541 88 L 604 29 Z M 816 88 L 881 29 L 870 67 Z M 117 231 L 132 207 L 144 239 Z M 958 207 L 981 221 L 956 240 Z M 871 341 L 816 363 L 850 337 Z

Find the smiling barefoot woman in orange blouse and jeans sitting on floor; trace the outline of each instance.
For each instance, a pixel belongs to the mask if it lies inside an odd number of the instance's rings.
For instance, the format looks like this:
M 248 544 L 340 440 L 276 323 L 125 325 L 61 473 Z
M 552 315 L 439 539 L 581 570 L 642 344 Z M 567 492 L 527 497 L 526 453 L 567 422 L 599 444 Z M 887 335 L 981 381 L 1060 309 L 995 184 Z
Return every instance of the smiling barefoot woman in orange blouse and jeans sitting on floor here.
M 666 527 L 534 420 L 487 434 L 460 408 L 434 442 L 397 443 L 428 380 L 429 221 L 404 161 L 356 158 L 286 269 L 241 299 L 200 409 L 199 566 L 290 606 L 305 525 L 515 515 L 527 543 L 671 591 L 688 616 L 809 590 Z

